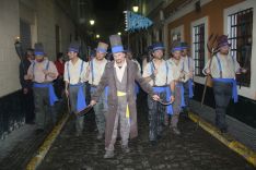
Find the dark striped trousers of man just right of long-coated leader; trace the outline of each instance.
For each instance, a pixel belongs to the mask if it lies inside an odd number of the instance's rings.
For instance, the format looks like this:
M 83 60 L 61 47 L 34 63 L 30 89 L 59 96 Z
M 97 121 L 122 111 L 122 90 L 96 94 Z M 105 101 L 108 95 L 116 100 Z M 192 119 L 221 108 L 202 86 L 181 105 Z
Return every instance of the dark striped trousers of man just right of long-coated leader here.
M 161 98 L 166 98 L 165 93 L 159 94 Z M 151 96 L 148 96 L 149 107 L 149 139 L 155 141 L 158 135 L 161 135 L 166 114 L 166 107 L 158 101 L 154 101 Z

